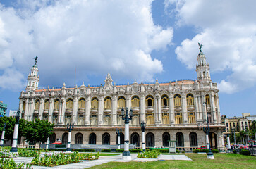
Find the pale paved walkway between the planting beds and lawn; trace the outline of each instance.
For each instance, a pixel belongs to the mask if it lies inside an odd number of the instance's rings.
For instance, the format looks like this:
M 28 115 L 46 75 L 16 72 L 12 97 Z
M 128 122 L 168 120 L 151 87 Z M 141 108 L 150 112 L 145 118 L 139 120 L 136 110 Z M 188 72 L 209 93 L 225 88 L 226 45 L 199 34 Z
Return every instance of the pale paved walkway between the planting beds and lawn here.
M 166 160 L 183 160 L 183 161 L 191 161 L 190 158 L 188 158 L 185 155 L 160 155 L 159 158 L 137 158 L 137 154 L 130 154 L 132 161 L 166 161 Z M 30 163 L 32 161 L 32 157 L 16 157 L 13 158 L 13 160 L 16 163 Z M 101 165 L 104 163 L 109 163 L 111 161 L 114 162 L 129 162 L 129 161 L 124 161 L 122 159 L 122 154 L 116 155 L 116 156 L 99 156 L 98 160 L 94 161 L 81 161 L 79 163 L 72 163 L 72 164 L 67 164 L 67 165 L 59 165 L 55 167 L 44 167 L 44 166 L 35 166 L 32 165 L 33 169 L 44 169 L 44 168 L 68 168 L 68 169 L 83 169 L 83 168 L 90 168 L 95 165 Z

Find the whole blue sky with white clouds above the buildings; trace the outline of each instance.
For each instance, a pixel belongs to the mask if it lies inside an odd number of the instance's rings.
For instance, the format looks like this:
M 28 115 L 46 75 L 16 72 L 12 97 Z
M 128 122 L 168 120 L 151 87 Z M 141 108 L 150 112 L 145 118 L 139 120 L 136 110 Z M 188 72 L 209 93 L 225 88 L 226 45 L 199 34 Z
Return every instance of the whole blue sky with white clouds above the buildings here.
M 0 0 L 0 100 L 8 111 L 35 56 L 39 87 L 195 80 L 199 53 L 221 115 L 256 115 L 256 1 Z

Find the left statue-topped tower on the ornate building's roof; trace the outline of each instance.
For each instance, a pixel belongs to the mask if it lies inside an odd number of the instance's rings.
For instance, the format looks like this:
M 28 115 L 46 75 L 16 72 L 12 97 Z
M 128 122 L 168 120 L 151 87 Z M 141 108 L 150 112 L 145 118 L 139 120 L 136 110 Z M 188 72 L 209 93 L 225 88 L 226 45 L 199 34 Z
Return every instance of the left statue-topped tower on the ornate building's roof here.
M 26 91 L 38 89 L 39 83 L 39 75 L 38 75 L 38 68 L 37 68 L 37 56 L 35 57 L 35 65 L 31 68 L 31 73 L 28 75 L 28 83 L 26 87 Z

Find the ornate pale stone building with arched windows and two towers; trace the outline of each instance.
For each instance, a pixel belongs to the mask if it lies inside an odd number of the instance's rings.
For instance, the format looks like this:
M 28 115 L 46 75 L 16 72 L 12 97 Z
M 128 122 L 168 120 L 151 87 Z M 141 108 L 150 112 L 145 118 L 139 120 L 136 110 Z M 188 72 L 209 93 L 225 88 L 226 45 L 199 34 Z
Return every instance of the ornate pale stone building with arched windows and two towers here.
M 20 111 L 25 120 L 39 118 L 54 123 L 50 141 L 67 142 L 67 123 L 75 123 L 71 144 L 116 145 L 116 128 L 124 130 L 121 108 L 133 109 L 130 143 L 141 146 L 140 123 L 147 127 L 146 147 L 168 146 L 176 140 L 177 148 L 189 151 L 205 146 L 202 127 L 211 128 L 211 146 L 224 149 L 219 111 L 219 90 L 209 73 L 209 65 L 200 49 L 197 57 L 197 80 L 176 80 L 152 84 L 116 85 L 111 75 L 97 87 L 38 89 L 37 65 L 28 76 L 26 91 L 20 94 Z M 121 136 L 121 143 L 123 136 Z

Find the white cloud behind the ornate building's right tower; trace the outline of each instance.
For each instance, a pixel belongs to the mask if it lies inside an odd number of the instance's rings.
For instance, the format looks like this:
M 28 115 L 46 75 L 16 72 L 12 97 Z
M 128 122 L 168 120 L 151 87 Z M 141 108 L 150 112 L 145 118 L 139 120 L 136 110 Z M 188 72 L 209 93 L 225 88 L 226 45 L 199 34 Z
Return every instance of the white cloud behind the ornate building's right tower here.
M 192 25 L 197 35 L 176 48 L 178 60 L 194 68 L 197 42 L 214 72 L 231 71 L 219 83 L 221 92 L 233 93 L 256 83 L 256 1 L 165 1 L 178 26 Z

